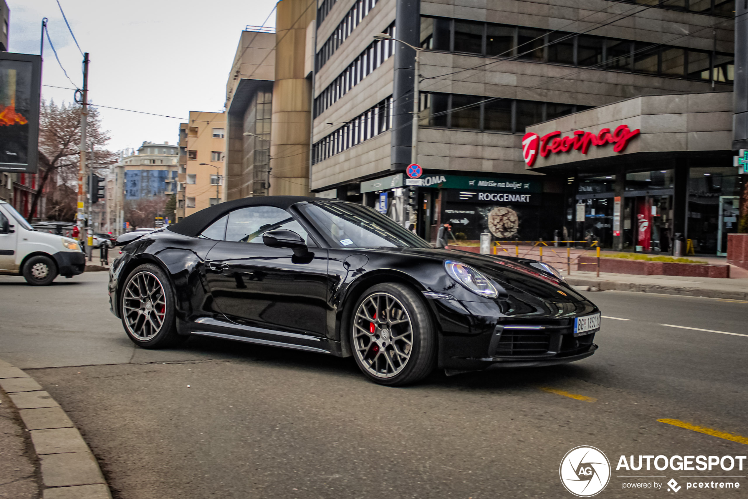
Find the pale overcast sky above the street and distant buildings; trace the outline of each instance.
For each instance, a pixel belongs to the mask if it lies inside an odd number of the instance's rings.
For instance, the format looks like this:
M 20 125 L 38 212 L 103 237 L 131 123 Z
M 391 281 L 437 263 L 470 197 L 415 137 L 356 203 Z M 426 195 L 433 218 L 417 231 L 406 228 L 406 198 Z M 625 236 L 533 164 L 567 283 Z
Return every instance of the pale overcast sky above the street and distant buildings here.
M 43 17 L 62 66 L 82 86 L 82 55 L 57 1 L 6 0 L 9 51 L 38 54 Z M 223 111 L 226 82 L 245 25 L 262 25 L 274 0 L 60 0 L 83 52 L 90 52 L 89 99 L 115 108 L 187 118 Z M 267 26 L 275 26 L 275 13 Z M 49 43 L 43 85 L 73 88 Z M 71 102 L 72 90 L 42 87 L 43 99 Z M 143 141 L 175 144 L 183 120 L 99 108 L 111 150 Z

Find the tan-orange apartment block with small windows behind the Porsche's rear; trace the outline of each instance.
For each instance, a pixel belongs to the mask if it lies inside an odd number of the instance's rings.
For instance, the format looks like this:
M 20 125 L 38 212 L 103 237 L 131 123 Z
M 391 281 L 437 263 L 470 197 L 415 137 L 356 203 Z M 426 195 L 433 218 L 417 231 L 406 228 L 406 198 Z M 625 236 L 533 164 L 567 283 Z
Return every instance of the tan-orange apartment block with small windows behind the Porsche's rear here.
M 226 117 L 226 113 L 189 111 L 185 190 L 183 199 L 177 197 L 178 213 L 184 209 L 184 216 L 226 200 Z

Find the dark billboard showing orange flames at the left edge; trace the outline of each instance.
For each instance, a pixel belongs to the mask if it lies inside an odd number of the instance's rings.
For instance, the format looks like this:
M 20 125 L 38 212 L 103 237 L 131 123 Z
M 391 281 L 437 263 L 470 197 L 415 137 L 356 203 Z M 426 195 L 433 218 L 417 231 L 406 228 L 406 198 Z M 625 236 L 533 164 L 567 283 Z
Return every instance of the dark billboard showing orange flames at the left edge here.
M 0 52 L 0 171 L 36 173 L 41 57 Z

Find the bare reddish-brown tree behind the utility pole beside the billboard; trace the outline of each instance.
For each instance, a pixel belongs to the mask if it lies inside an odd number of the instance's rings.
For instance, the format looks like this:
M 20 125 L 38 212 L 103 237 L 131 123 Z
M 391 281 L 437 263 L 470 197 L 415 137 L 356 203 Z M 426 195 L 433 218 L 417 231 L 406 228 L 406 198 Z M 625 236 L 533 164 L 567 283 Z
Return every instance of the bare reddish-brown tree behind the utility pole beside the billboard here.
M 57 191 L 60 184 L 71 189 L 76 188 L 78 181 L 78 165 L 80 162 L 79 145 L 81 142 L 81 106 L 77 104 L 56 105 L 51 100 L 41 102 L 39 117 L 39 162 L 40 174 L 37 190 L 31 200 L 31 210 L 28 218 L 34 218 L 40 197 L 50 179 L 55 184 L 52 191 Z M 86 125 L 86 141 L 93 144 L 91 164 L 111 165 L 117 162 L 117 156 L 104 148 L 109 141 L 109 132 L 102 130 L 99 111 L 95 107 L 88 108 Z M 89 153 L 89 156 L 91 153 Z M 77 189 L 76 189 L 77 192 Z M 77 194 L 76 194 L 77 196 Z M 70 196 L 62 196 L 58 201 L 70 202 Z M 77 198 L 73 200 L 75 212 Z M 58 206 L 61 208 L 61 206 Z M 62 209 L 70 211 L 70 209 Z

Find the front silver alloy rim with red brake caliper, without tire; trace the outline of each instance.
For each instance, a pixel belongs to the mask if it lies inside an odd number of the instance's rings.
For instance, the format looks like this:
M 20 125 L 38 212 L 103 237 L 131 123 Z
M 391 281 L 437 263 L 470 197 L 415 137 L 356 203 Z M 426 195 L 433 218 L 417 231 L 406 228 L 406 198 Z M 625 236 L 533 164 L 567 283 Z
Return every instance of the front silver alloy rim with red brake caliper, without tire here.
M 413 350 L 405 305 L 389 293 L 373 293 L 358 307 L 353 325 L 353 348 L 367 371 L 378 378 L 402 372 Z

